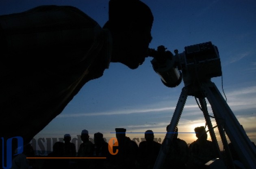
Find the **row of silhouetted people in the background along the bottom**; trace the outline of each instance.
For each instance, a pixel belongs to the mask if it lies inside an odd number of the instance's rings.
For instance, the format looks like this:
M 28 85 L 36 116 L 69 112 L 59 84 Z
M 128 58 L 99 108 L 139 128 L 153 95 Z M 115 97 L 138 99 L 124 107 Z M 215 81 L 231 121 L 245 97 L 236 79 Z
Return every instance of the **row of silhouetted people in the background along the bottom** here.
M 166 127 L 168 131 L 169 125 Z M 62 140 L 55 142 L 47 159 L 43 160 L 41 166 L 33 165 L 33 160 L 28 161 L 26 156 L 33 151 L 30 144 L 26 145 L 26 151 L 19 156 L 22 165 L 30 169 L 153 169 L 158 153 L 161 150 L 161 143 L 154 140 L 152 130 L 145 131 L 145 141 L 137 144 L 126 136 L 125 128 L 116 128 L 116 139 L 113 145 L 106 142 L 103 134 L 94 133 L 93 139 L 89 139 L 89 131 L 84 129 L 81 132 L 82 143 L 76 145 L 71 141 L 71 135 L 65 134 Z M 178 138 L 178 127 L 175 128 L 169 150 L 166 151 L 165 159 L 161 169 L 204 169 L 206 163 L 219 158 L 213 143 L 207 140 L 205 127 L 196 127 L 195 135 L 197 140 L 187 144 Z M 92 142 L 93 140 L 93 142 Z M 165 143 L 165 139 L 162 144 Z M 32 148 L 32 149 L 31 149 Z M 22 156 L 22 158 L 21 158 Z M 55 158 L 54 158 L 55 157 Z M 58 157 L 58 159 L 56 159 Z M 17 164 L 17 158 L 13 163 Z M 26 167 L 25 167 L 26 168 Z

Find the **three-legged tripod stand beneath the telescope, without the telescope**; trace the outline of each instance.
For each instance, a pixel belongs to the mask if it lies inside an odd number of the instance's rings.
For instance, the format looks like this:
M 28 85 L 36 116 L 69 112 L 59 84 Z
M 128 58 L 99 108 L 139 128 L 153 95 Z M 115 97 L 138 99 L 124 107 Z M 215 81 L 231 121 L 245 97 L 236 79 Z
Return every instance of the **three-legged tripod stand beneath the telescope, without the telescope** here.
M 161 150 L 159 151 L 158 157 L 156 159 L 154 169 L 160 169 L 165 161 L 167 151 L 169 150 L 172 141 L 174 129 L 178 125 L 188 95 L 195 96 L 199 99 L 201 104 L 201 110 L 204 114 L 206 125 L 208 126 L 210 132 L 210 137 L 216 150 L 219 153 L 220 159 L 223 160 L 223 157 L 221 156 L 219 145 L 217 143 L 217 138 L 213 130 L 210 116 L 208 114 L 205 97 L 208 99 L 210 106 L 213 110 L 214 118 L 217 123 L 219 134 L 221 136 L 221 141 L 223 143 L 225 152 L 227 153 L 228 166 L 234 168 L 225 133 L 228 135 L 228 138 L 232 142 L 235 151 L 239 155 L 241 163 L 243 163 L 244 167 L 246 169 L 255 169 L 256 148 L 250 141 L 249 137 L 246 135 L 243 127 L 234 116 L 232 110 L 222 97 L 215 84 L 210 80 L 206 80 L 196 86 L 185 85 L 185 87 L 182 88 L 182 92 L 178 99 L 176 109 L 171 118 L 169 129 L 167 131 L 167 134 L 165 135 L 166 142 L 161 146 Z

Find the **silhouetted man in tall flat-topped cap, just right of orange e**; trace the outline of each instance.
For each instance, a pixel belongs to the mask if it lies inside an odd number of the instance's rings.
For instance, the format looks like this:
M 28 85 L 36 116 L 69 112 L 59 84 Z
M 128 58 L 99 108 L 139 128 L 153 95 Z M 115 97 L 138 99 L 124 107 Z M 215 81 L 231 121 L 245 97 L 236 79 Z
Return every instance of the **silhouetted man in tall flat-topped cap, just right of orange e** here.
M 126 129 L 116 128 L 118 146 L 113 146 L 113 152 L 118 153 L 113 156 L 115 169 L 134 169 L 137 163 L 138 145 L 129 137 L 126 137 Z M 116 143 L 114 144 L 116 145 Z

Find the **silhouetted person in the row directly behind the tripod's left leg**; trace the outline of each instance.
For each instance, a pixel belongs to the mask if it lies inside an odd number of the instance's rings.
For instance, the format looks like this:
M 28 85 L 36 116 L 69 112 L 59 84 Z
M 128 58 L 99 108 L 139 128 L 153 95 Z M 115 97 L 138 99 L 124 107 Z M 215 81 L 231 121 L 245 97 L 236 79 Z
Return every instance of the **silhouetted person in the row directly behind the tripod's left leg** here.
M 169 125 L 167 125 L 166 131 L 168 131 L 168 128 Z M 163 144 L 165 144 L 165 140 L 163 141 Z M 171 141 L 169 151 L 167 152 L 163 169 L 170 167 L 173 169 L 186 169 L 188 157 L 189 148 L 187 143 L 178 138 L 178 127 L 175 127 L 173 139 Z

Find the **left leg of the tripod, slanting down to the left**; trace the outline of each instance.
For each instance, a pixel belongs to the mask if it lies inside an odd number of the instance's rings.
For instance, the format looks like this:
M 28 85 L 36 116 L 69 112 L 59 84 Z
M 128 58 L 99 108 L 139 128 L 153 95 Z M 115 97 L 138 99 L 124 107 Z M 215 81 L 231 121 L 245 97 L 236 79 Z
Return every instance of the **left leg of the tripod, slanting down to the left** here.
M 160 169 L 165 161 L 165 157 L 166 157 L 167 152 L 169 151 L 171 140 L 172 140 L 172 137 L 174 134 L 173 133 L 174 129 L 178 125 L 178 122 L 180 120 L 180 116 L 181 116 L 182 110 L 184 108 L 184 105 L 186 103 L 187 97 L 188 97 L 188 88 L 183 87 L 182 91 L 180 93 L 180 98 L 178 100 L 177 106 L 174 111 L 174 115 L 171 118 L 171 123 L 170 123 L 169 129 L 165 135 L 164 142 L 161 145 L 161 149 L 156 158 L 156 162 L 154 164 L 154 169 Z

